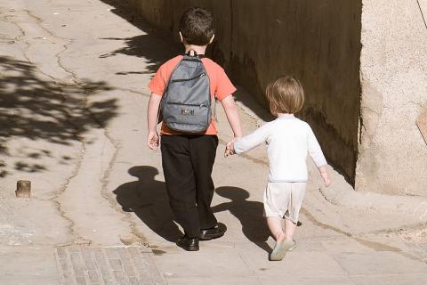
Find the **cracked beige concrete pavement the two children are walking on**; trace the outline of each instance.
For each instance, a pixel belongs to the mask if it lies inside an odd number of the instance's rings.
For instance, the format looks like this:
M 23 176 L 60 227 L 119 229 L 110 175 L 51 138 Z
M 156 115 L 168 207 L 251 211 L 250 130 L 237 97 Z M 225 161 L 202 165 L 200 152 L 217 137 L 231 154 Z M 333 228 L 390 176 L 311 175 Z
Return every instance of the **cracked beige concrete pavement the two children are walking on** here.
M 312 166 L 298 248 L 268 261 L 265 152 L 224 159 L 221 111 L 213 206 L 229 231 L 177 248 L 144 141 L 149 78 L 179 50 L 117 3 L 0 0 L 1 284 L 425 283 L 425 199 L 355 193 L 337 173 L 325 189 Z M 247 134 L 268 114 L 236 96 Z M 32 199 L 14 198 L 18 179 Z

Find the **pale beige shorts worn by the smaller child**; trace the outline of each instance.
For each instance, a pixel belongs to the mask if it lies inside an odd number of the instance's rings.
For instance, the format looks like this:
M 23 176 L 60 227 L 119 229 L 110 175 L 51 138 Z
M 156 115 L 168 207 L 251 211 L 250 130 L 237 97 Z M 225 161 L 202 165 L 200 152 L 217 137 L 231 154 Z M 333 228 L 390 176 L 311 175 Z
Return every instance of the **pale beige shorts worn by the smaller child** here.
M 269 183 L 264 192 L 264 216 L 285 217 L 294 224 L 305 195 L 306 183 Z

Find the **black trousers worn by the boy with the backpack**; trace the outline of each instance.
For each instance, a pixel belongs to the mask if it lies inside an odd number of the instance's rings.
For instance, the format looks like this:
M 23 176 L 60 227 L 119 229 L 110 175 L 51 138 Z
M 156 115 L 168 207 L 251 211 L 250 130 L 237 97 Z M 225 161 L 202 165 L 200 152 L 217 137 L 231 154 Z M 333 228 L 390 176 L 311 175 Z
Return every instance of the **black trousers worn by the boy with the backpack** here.
M 173 214 L 189 238 L 217 224 L 211 209 L 216 135 L 163 135 L 162 164 Z

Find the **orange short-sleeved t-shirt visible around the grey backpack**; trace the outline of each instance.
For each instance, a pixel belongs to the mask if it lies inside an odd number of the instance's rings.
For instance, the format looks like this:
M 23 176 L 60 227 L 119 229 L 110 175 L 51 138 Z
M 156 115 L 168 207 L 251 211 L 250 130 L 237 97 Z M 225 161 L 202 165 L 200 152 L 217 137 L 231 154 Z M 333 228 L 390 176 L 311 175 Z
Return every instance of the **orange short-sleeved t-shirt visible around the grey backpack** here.
M 156 75 L 149 82 L 149 90 L 153 94 L 163 96 L 169 77 L 181 59 L 182 55 L 178 55 L 166 61 L 157 70 Z M 222 101 L 222 99 L 236 91 L 236 87 L 231 83 L 221 66 L 208 58 L 202 58 L 202 62 L 209 77 L 211 99 L 215 97 L 217 100 Z M 171 130 L 165 123 L 162 123 L 160 134 L 179 135 L 181 133 Z M 212 119 L 211 125 L 209 125 L 205 132 L 200 134 L 218 134 L 215 118 Z

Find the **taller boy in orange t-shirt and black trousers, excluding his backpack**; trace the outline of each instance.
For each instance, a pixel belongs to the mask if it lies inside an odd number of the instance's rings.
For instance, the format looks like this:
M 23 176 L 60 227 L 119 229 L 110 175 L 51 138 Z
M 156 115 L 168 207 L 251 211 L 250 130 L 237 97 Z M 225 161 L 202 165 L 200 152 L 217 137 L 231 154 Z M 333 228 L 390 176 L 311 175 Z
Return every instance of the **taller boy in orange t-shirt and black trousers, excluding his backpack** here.
M 190 8 L 182 14 L 179 29 L 185 53 L 204 55 L 206 46 L 214 40 L 214 16 L 205 9 Z M 147 144 L 154 151 L 159 144 L 158 107 L 168 79 L 181 59 L 182 55 L 179 55 L 166 61 L 149 83 L 151 97 L 148 107 Z M 238 110 L 231 96 L 236 88 L 218 64 L 205 57 L 202 57 L 201 61 L 209 77 L 211 99 L 215 98 L 222 103 L 234 137 L 241 137 Z M 176 221 L 185 232 L 177 241 L 177 245 L 185 250 L 198 250 L 198 240 L 219 238 L 227 229 L 225 224 L 217 222 L 211 209 L 214 195 L 211 174 L 218 146 L 217 133 L 214 118 L 207 130 L 200 134 L 179 133 L 165 123 L 161 127 L 166 189 Z

